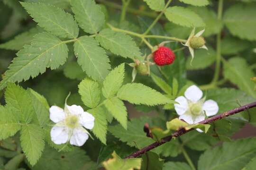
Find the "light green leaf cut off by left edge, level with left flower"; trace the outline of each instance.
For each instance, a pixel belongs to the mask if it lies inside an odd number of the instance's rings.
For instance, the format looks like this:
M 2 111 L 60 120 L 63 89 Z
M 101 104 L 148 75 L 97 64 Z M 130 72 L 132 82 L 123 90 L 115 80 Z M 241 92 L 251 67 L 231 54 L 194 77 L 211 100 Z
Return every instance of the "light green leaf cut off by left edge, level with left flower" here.
M 0 140 L 13 136 L 20 129 L 18 114 L 12 112 L 8 106 L 0 105 Z

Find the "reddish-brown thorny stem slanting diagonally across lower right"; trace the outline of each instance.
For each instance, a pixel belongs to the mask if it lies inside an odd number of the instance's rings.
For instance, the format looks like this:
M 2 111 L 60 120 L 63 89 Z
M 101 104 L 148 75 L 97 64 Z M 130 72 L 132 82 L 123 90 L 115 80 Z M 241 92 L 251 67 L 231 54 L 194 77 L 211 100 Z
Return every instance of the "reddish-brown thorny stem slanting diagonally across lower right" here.
M 212 123 L 212 122 L 217 121 L 219 119 L 226 118 L 228 116 L 234 115 L 236 113 L 239 113 L 239 112 L 242 112 L 242 111 L 254 108 L 254 107 L 256 107 L 256 102 L 249 103 L 247 105 L 238 107 L 238 108 L 233 109 L 233 110 L 228 110 L 228 111 L 226 111 L 224 113 L 221 113 L 219 115 L 213 116 L 213 117 L 211 117 L 209 119 L 205 119 L 205 120 L 203 120 L 203 121 L 201 121 L 199 123 L 201 123 L 201 124 L 209 124 L 209 123 Z M 172 140 L 173 137 L 182 136 L 183 134 L 188 133 L 188 132 L 190 132 L 192 130 L 194 130 L 194 129 L 192 128 L 192 129 L 189 129 L 189 130 L 185 130 L 185 129 L 181 128 L 180 130 L 177 130 L 176 132 L 174 132 L 172 135 L 166 136 L 166 137 L 162 138 L 160 140 L 160 142 L 155 142 L 153 144 L 149 144 L 148 146 L 146 146 L 146 147 L 136 151 L 135 153 L 130 154 L 125 159 L 139 157 L 140 155 L 142 155 L 142 154 L 144 154 L 144 153 L 154 149 L 155 147 L 160 146 L 162 144 L 165 144 L 166 142 L 169 142 L 170 140 Z

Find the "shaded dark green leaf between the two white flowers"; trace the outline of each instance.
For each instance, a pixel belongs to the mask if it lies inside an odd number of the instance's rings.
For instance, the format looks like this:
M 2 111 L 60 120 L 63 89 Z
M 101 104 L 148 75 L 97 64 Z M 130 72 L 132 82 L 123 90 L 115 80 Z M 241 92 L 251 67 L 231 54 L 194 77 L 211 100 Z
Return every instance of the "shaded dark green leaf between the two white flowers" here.
M 128 121 L 127 130 L 121 127 L 121 125 L 110 126 L 108 130 L 129 146 L 142 148 L 155 142 L 152 138 L 147 137 L 146 133 L 143 131 L 144 124 L 149 123 L 149 121 L 150 119 L 143 117 L 140 119 L 131 119 L 131 121 Z

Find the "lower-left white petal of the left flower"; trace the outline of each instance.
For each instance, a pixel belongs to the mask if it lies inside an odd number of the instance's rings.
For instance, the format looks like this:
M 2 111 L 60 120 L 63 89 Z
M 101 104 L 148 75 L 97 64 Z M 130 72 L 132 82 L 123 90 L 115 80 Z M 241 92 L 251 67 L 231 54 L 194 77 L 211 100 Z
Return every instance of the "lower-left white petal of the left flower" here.
M 68 140 L 68 128 L 54 126 L 51 129 L 51 139 L 55 144 L 65 144 Z

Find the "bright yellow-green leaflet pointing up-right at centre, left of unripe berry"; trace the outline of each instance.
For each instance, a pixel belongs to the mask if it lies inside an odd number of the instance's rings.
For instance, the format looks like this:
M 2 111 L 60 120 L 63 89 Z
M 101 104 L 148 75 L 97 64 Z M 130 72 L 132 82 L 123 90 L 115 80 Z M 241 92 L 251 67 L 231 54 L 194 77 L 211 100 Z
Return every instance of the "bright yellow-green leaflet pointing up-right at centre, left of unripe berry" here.
M 114 68 L 103 82 L 102 93 L 104 97 L 113 97 L 123 84 L 125 76 L 125 65 L 120 64 Z

